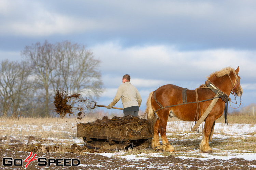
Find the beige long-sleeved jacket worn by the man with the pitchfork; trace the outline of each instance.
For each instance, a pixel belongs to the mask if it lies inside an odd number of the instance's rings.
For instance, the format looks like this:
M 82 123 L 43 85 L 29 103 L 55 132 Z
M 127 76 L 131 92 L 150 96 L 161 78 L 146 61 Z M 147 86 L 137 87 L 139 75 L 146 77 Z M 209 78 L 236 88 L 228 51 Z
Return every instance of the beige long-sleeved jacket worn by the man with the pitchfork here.
M 109 106 L 113 107 L 120 100 L 120 98 L 122 99 L 124 108 L 131 106 L 140 107 L 142 101 L 139 91 L 130 82 L 124 82 L 118 87 L 116 96 Z

